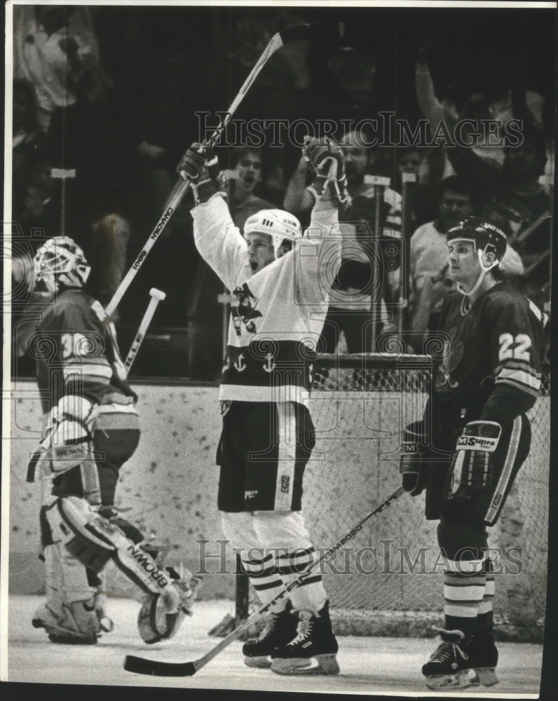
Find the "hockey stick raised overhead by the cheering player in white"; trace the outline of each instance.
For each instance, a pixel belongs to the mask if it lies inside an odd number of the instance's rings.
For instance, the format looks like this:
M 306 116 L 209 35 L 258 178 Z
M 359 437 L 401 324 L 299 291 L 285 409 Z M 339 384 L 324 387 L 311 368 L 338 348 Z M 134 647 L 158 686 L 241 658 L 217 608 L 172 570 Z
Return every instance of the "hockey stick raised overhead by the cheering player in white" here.
M 217 144 L 219 138 L 222 135 L 222 132 L 226 129 L 226 125 L 229 123 L 229 121 L 231 121 L 231 117 L 236 112 L 238 105 L 240 104 L 240 102 L 242 102 L 248 90 L 250 90 L 252 83 L 254 83 L 257 76 L 261 72 L 261 69 L 265 66 L 266 62 L 268 62 L 269 57 L 271 57 L 271 55 L 273 55 L 273 53 L 275 53 L 276 50 L 281 48 L 281 46 L 285 46 L 285 44 L 287 43 L 291 43 L 292 41 L 311 39 L 311 37 L 315 36 L 316 34 L 325 37 L 328 37 L 329 35 L 330 39 L 338 40 L 341 38 L 341 36 L 343 36 L 344 31 L 345 29 L 342 22 L 316 22 L 315 24 L 311 25 L 300 25 L 299 27 L 291 27 L 290 29 L 284 29 L 282 32 L 277 32 L 276 34 L 273 34 L 268 45 L 266 46 L 266 48 L 264 48 L 263 53 L 261 54 L 256 64 L 250 71 L 250 74 L 248 75 L 247 79 L 244 81 L 243 86 L 240 88 L 240 90 L 238 90 L 238 94 L 234 98 L 231 107 L 229 107 L 229 111 L 226 112 L 224 118 L 222 118 L 222 120 L 219 122 L 219 125 L 212 133 L 210 138 L 204 140 L 204 145 L 215 146 L 215 144 Z M 145 258 L 147 257 L 147 254 L 154 246 L 154 243 L 159 238 L 159 236 L 161 236 L 161 233 L 163 232 L 163 229 L 165 229 L 165 226 L 168 224 L 170 217 L 172 216 L 173 212 L 175 212 L 176 208 L 182 201 L 182 198 L 186 194 L 189 185 L 190 181 L 187 178 L 183 178 L 181 176 L 177 180 L 177 183 L 175 184 L 175 187 L 172 190 L 170 198 L 166 203 L 165 211 L 163 212 L 163 215 L 161 215 L 161 219 L 159 219 L 159 221 L 155 225 L 154 230 L 151 232 L 149 238 L 147 239 L 147 243 L 144 245 L 135 261 L 132 263 L 132 267 L 130 268 L 128 273 L 126 273 L 120 285 L 118 285 L 118 289 L 114 293 L 114 296 L 112 297 L 111 301 L 109 301 L 109 304 L 107 304 L 106 311 L 109 316 L 114 314 L 114 311 L 120 303 L 125 291 L 128 290 L 128 287 L 130 287 L 130 283 L 132 283 L 132 280 L 135 278 L 137 271 L 142 266 Z

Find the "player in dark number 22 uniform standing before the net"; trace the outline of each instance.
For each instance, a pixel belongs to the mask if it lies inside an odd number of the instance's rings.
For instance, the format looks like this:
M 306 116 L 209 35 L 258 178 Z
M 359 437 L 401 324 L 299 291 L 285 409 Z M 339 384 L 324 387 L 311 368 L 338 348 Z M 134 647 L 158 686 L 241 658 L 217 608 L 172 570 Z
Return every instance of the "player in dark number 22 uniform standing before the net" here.
M 423 421 L 404 431 L 401 458 L 404 489 L 416 496 L 426 488 L 426 518 L 440 519 L 445 625 L 422 669 L 432 689 L 498 681 L 486 528 L 529 454 L 525 414 L 540 390 L 544 322 L 532 301 L 501 281 L 500 229 L 470 217 L 449 229 L 447 244 L 458 292 L 444 301 L 433 395 Z

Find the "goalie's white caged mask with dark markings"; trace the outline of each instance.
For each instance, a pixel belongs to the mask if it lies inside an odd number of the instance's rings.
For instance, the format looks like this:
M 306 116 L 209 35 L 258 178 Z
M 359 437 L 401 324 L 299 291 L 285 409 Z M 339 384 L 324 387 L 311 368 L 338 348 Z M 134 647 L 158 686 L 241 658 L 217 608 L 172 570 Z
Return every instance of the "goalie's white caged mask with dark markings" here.
M 55 236 L 39 248 L 34 257 L 35 284 L 48 292 L 63 287 L 83 287 L 91 271 L 83 251 L 68 236 Z

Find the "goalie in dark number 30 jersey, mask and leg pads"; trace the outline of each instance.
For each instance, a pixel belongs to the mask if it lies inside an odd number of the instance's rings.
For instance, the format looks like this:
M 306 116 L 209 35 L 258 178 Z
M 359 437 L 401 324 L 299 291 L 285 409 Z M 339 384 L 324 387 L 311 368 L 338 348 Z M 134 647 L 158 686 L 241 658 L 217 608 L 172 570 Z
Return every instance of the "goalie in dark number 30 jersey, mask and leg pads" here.
M 110 632 L 104 566 L 112 560 L 135 585 L 146 643 L 170 638 L 191 613 L 189 577 L 156 562 L 139 529 L 118 515 L 118 472 L 140 440 L 137 396 L 126 381 L 114 324 L 86 285 L 90 266 L 67 236 L 34 259 L 36 291 L 53 297 L 28 339 L 37 359 L 45 428 L 27 480 L 43 485 L 41 545 L 46 603 L 33 618 L 53 643 L 94 644 Z M 195 582 L 196 580 L 193 580 Z

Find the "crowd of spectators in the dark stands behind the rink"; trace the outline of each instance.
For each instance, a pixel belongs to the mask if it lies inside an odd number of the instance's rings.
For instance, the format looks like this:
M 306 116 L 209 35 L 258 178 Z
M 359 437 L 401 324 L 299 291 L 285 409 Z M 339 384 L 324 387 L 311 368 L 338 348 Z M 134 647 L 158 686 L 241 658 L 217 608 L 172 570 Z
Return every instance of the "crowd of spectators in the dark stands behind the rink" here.
M 456 61 L 442 65 L 447 41 L 444 48 L 432 30 L 413 36 L 413 20 L 407 29 L 400 22 L 414 43 L 400 53 L 393 48 L 393 80 L 382 36 L 395 26 L 392 15 L 346 14 L 343 46 L 297 42 L 278 52 L 237 115 L 313 125 L 326 118 L 337 125 L 349 198 L 341 212 L 343 265 L 321 350 L 372 351 L 379 334 L 409 332 L 411 348 L 421 352 L 452 285 L 444 233 L 471 214 L 505 231 L 503 275 L 548 313 L 554 73 L 547 67 L 545 79 L 531 85 L 521 64 L 510 60 L 521 20 L 510 20 L 509 36 L 468 70 L 459 70 Z M 204 136 L 196 132 L 197 114 L 209 112 L 215 125 L 215 111 L 231 102 L 234 86 L 271 35 L 306 20 L 290 9 L 222 8 L 219 15 L 129 8 L 118 14 L 88 6 L 15 6 L 12 211 L 23 236 L 37 229 L 47 238 L 72 236 L 93 264 L 91 284 L 106 304 L 163 212 L 180 151 Z M 191 22 L 199 27 L 186 47 L 183 32 Z M 367 27 L 374 29 L 370 40 Z M 384 41 L 383 53 L 374 41 Z M 208 56 L 203 67 L 200 51 Z M 505 125 L 519 119 L 522 142 L 494 140 L 503 135 L 497 130 L 472 146 L 449 147 L 439 139 L 367 147 L 366 128 L 355 130 L 354 124 L 389 111 L 411 129 L 425 120 L 430 139 L 440 122 L 444 134 L 453 137 L 459 128 L 466 137 L 468 120 Z M 265 207 L 282 207 L 308 224 L 315 195 L 297 144 L 275 148 L 264 139 L 261 148 L 239 146 L 218 149 L 236 225 L 242 230 L 247 217 Z M 220 359 L 207 348 L 219 347 L 214 341 L 222 334 L 226 291 L 193 247 L 191 204 L 186 197 L 137 279 L 147 290 L 156 285 L 167 292 L 154 328 L 190 330 L 185 374 L 211 378 Z M 40 240 L 29 237 L 30 254 Z M 379 271 L 379 259 L 386 264 L 393 258 L 394 240 L 400 242 L 395 263 Z M 19 283 L 26 262 L 15 262 Z M 140 294 L 128 295 L 118 324 L 137 326 L 143 308 Z

